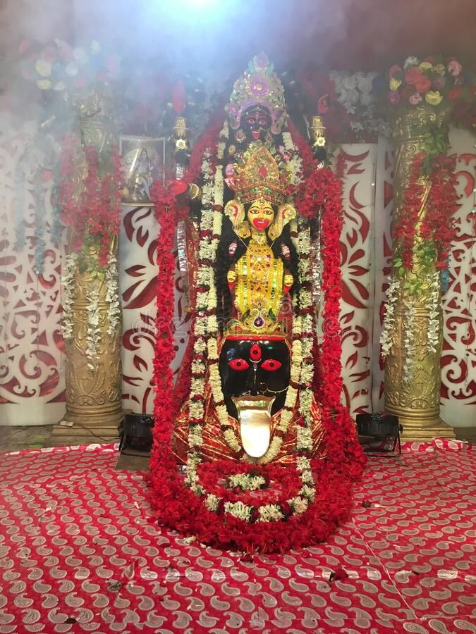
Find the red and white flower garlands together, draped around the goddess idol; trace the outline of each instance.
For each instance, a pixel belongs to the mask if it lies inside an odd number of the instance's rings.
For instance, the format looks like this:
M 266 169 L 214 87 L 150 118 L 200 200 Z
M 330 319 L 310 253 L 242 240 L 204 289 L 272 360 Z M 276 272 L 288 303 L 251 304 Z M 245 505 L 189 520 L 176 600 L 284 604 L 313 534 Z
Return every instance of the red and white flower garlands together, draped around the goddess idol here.
M 313 173 L 312 154 L 304 139 L 293 132 L 286 137 L 286 145 L 300 151 L 303 170 Z M 311 410 L 315 390 L 313 346 L 315 342 L 315 311 L 312 306 L 311 263 L 306 254 L 310 252 L 310 230 L 307 218 L 300 218 L 291 228 L 291 236 L 301 256 L 299 277 L 302 290 L 299 315 L 293 319 L 293 357 L 291 387 L 289 393 L 293 403 L 286 402 L 281 414 L 274 444 L 269 451 L 279 451 L 279 443 L 285 435 L 291 416 L 288 407 L 300 408 L 302 416 L 298 429 L 298 455 L 293 466 L 283 466 L 270 461 L 259 466 L 240 461 L 242 451 L 238 439 L 229 424 L 228 414 L 221 392 L 216 349 L 216 289 L 214 288 L 214 254 L 221 233 L 223 205 L 223 179 L 219 161 L 223 156 L 227 126 L 214 123 L 197 142 L 190 160 L 185 180 L 202 178 L 202 214 L 199 232 L 199 268 L 197 271 L 197 306 L 193 316 L 193 331 L 188 351 L 190 375 L 185 376 L 173 391 L 173 376 L 170 364 L 173 359 L 173 340 L 168 324 L 173 318 L 173 226 L 181 215 L 173 195 L 160 184 L 154 184 L 152 199 L 161 226 L 158 241 L 157 297 L 157 344 L 154 361 L 156 397 L 154 401 L 154 446 L 151 458 L 150 499 L 154 513 L 160 523 L 181 530 L 184 534 L 196 535 L 202 542 L 221 546 L 233 545 L 245 551 L 285 550 L 300 547 L 324 539 L 330 530 L 348 514 L 350 508 L 349 481 L 358 477 L 362 470 L 362 451 L 355 441 L 355 429 L 350 416 L 340 406 L 341 383 L 334 381 L 340 375 L 340 342 L 336 332 L 329 327 L 329 341 L 324 354 L 326 361 L 331 354 L 337 361 L 329 364 L 330 378 L 324 378 L 322 391 L 323 424 L 329 434 L 326 460 L 311 458 L 311 425 L 315 423 L 315 412 Z M 194 176 L 195 175 L 195 176 Z M 329 177 L 330 182 L 330 177 Z M 338 182 L 338 180 L 337 180 Z M 340 192 L 340 189 L 338 190 Z M 340 268 L 338 266 L 338 230 L 341 226 L 342 205 L 334 193 L 324 194 L 329 203 L 326 220 L 329 232 L 323 245 L 325 297 L 329 300 L 326 313 L 329 323 L 338 325 L 338 296 L 340 294 Z M 310 213 L 309 216 L 312 216 Z M 335 236 L 337 236 L 335 238 Z M 336 250 L 336 257 L 331 250 Z M 336 302 L 331 297 L 336 297 Z M 335 361 L 335 360 L 334 360 Z M 331 383 L 334 383 L 331 385 Z M 184 386 L 190 385 L 188 411 L 188 459 L 185 479 L 176 468 L 171 451 L 173 424 L 185 394 Z M 209 388 L 207 387 L 209 385 Z M 202 425 L 207 389 L 212 390 L 216 411 L 228 445 L 236 452 L 237 461 L 202 461 Z M 272 459 L 272 455 L 270 456 Z M 223 474 L 227 478 L 223 481 Z M 350 478 L 350 480 L 348 479 Z M 279 487 L 273 483 L 279 482 Z M 325 519 L 323 519 L 325 518 Z M 273 528 L 276 522 L 286 521 L 286 531 Z M 250 526 L 250 528 L 246 528 Z

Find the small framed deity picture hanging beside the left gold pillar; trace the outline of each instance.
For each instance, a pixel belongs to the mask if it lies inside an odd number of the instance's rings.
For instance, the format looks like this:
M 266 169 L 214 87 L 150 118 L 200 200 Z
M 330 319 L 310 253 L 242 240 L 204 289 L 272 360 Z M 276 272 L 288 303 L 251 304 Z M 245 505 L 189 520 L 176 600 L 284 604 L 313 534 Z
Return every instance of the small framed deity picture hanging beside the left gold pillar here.
M 164 180 L 165 139 L 121 136 L 122 204 L 152 205 L 150 188 L 154 180 Z

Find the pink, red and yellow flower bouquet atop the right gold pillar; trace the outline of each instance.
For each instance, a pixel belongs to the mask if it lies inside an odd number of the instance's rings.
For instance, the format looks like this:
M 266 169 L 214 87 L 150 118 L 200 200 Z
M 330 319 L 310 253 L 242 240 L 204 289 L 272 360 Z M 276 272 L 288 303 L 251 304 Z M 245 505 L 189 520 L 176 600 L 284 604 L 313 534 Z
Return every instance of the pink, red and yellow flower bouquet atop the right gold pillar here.
M 420 61 L 410 56 L 403 66 L 391 66 L 387 100 L 393 108 L 419 104 L 442 108 L 470 98 L 468 84 L 463 66 L 456 58 L 425 57 Z

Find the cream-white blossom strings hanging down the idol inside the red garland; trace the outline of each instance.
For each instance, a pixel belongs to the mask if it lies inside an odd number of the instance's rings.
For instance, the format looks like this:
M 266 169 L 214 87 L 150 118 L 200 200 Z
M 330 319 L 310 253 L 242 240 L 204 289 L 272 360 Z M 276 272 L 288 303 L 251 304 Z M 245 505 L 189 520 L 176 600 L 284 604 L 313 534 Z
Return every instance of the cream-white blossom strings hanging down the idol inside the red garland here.
M 224 132 L 222 130 L 222 132 Z M 222 134 L 222 133 L 221 133 Z M 221 135 L 220 135 L 221 136 Z M 291 137 L 291 135 L 290 135 Z M 291 147 L 291 143 L 288 143 L 288 149 L 294 149 L 293 144 Z M 218 153 L 221 155 L 221 148 L 218 148 Z M 299 157 L 300 160 L 300 157 Z M 302 166 L 301 163 L 297 163 L 298 166 Z M 205 190 L 205 202 L 207 205 L 210 204 L 209 194 L 210 194 L 210 185 L 209 180 L 211 178 L 210 170 L 205 164 L 202 166 L 202 174 L 204 176 L 204 190 Z M 203 240 L 200 240 L 200 259 L 210 259 L 214 260 L 214 256 L 216 255 L 216 249 L 219 243 L 219 237 L 221 235 L 221 209 L 220 206 L 223 205 L 223 175 L 220 166 L 216 168 L 215 177 L 214 177 L 214 207 L 215 211 L 213 213 L 211 228 L 212 228 L 212 239 L 209 239 L 210 235 L 210 218 L 209 211 L 202 211 L 202 223 L 200 225 L 200 230 L 203 232 L 205 237 Z M 203 201 L 203 197 L 202 197 Z M 205 212 L 205 213 L 204 213 Z M 301 253 L 309 253 L 310 247 L 310 234 L 305 231 L 305 236 L 303 236 L 300 241 L 300 251 Z M 210 270 L 209 270 L 210 269 Z M 304 266 L 301 266 L 302 275 L 300 276 L 302 280 L 307 280 L 306 275 L 309 275 L 309 262 L 307 262 Z M 233 428 L 231 427 L 230 419 L 228 417 L 228 411 L 226 410 L 226 405 L 224 404 L 224 395 L 223 390 L 221 388 L 221 377 L 219 375 L 219 367 L 218 367 L 218 344 L 216 341 L 216 332 L 218 331 L 218 324 L 216 322 L 216 287 L 214 285 L 214 271 L 212 267 L 205 265 L 202 262 L 202 266 L 199 268 L 199 272 L 197 275 L 199 285 L 202 285 L 207 289 L 203 292 L 197 294 L 197 309 L 200 311 L 212 311 L 212 314 L 209 315 L 208 318 L 198 322 L 198 330 L 200 331 L 200 339 L 197 339 L 197 343 L 200 346 L 200 354 L 203 354 L 205 347 L 207 349 L 207 358 L 209 361 L 209 383 L 212 389 L 212 396 L 214 399 L 214 403 L 216 406 L 216 413 L 219 418 L 219 422 L 221 428 L 224 432 L 224 438 L 227 444 L 233 449 L 235 452 L 239 452 L 241 450 L 240 442 L 236 437 Z M 306 292 L 303 293 L 302 302 L 303 305 L 307 306 L 312 302 L 312 297 L 309 292 L 307 294 L 310 297 L 306 297 Z M 198 297 L 200 295 L 200 297 Z M 197 322 L 196 322 L 197 323 Z M 197 329 L 195 329 L 196 332 Z M 291 361 L 291 383 L 293 385 L 299 385 L 301 380 L 301 368 L 303 363 L 303 341 L 299 336 L 303 330 L 306 333 L 312 332 L 312 317 L 310 315 L 305 315 L 304 318 L 300 316 L 293 316 L 293 346 L 292 346 L 292 361 Z M 307 357 L 310 357 L 312 354 L 312 337 L 311 342 L 308 342 L 309 336 L 304 337 L 304 346 L 305 346 L 305 354 Z M 205 381 L 205 361 L 197 359 L 196 363 L 193 363 L 193 375 L 200 374 L 203 375 Z M 312 373 L 309 373 L 310 368 L 308 369 L 307 380 L 312 382 Z M 271 440 L 270 446 L 262 457 L 262 462 L 269 462 L 274 460 L 276 456 L 279 454 L 281 449 L 281 445 L 283 442 L 283 437 L 286 436 L 288 431 L 288 426 L 291 423 L 291 419 L 293 417 L 293 413 L 295 410 L 295 404 L 298 398 L 298 390 L 293 387 L 293 385 L 289 385 L 287 393 L 286 393 L 286 401 L 284 403 L 283 410 L 281 410 L 280 420 L 278 425 L 276 425 L 276 430 L 280 432 L 279 435 L 274 435 L 273 440 Z M 197 390 L 201 387 L 201 383 L 197 383 L 195 386 Z M 195 390 L 195 393 L 198 393 Z M 190 394 L 192 395 L 194 390 L 190 390 Z M 201 392 L 203 394 L 203 391 Z M 310 401 L 310 407 L 312 405 L 312 397 Z M 309 411 L 310 411 L 309 407 Z M 189 432 L 189 447 L 190 452 L 188 454 L 187 461 L 187 483 L 190 488 L 199 496 L 205 496 L 205 506 L 209 511 L 218 511 L 219 503 L 221 502 L 221 498 L 212 494 L 207 493 L 204 487 L 200 484 L 200 480 L 197 473 L 198 465 L 201 462 L 200 450 L 197 447 L 202 445 L 202 428 L 201 425 L 190 425 Z M 312 437 L 309 435 L 308 441 L 302 441 L 302 444 L 305 445 L 305 449 L 309 447 L 309 443 L 312 444 Z M 291 508 L 292 514 L 301 514 L 307 510 L 307 506 L 310 501 L 312 501 L 315 497 L 315 485 L 312 478 L 312 471 L 310 469 L 310 461 L 304 458 L 306 461 L 303 463 L 303 459 L 298 456 L 297 468 L 300 473 L 301 480 L 301 489 L 297 496 L 288 499 L 287 502 Z M 238 474 L 235 476 L 230 476 L 228 478 L 228 484 L 233 486 L 240 486 L 243 490 L 255 490 L 254 488 L 249 487 L 257 487 L 257 485 L 262 485 L 265 483 L 265 478 L 262 476 L 250 476 L 250 474 Z M 314 485 L 314 486 L 313 486 Z M 248 487 L 248 488 L 247 488 Z M 239 518 L 243 521 L 250 522 L 252 519 L 252 511 L 254 507 L 243 504 L 243 502 L 226 502 L 224 504 L 224 512 L 225 514 L 233 515 L 236 518 Z M 264 504 L 262 506 L 257 507 L 259 516 L 257 521 L 280 521 L 284 518 L 283 511 L 279 504 Z

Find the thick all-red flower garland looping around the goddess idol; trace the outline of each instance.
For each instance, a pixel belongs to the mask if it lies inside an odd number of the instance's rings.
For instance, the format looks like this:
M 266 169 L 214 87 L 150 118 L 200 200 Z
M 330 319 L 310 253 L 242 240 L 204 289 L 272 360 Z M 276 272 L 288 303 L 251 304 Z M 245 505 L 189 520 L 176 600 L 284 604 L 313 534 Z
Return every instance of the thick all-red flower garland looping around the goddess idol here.
M 196 156 L 190 160 L 188 178 L 193 180 L 195 172 L 200 170 L 202 156 L 205 147 L 216 142 L 219 126 L 209 130 L 203 138 L 207 142 L 200 144 Z M 302 138 L 302 137 L 301 137 Z M 296 139 L 294 139 L 296 142 Z M 300 143 L 300 139 L 296 144 Z M 216 146 L 214 146 L 216 147 Z M 308 153 L 310 150 L 308 150 Z M 302 153 L 303 154 L 303 153 Z M 305 154 L 305 156 L 307 156 Z M 312 155 L 311 155 L 312 156 Z M 305 162 L 305 165 L 312 163 Z M 242 520 L 227 514 L 226 521 L 223 512 L 223 504 L 219 508 L 219 514 L 208 511 L 202 499 L 197 497 L 183 482 L 183 478 L 177 473 L 176 461 L 172 453 L 173 423 L 177 413 L 177 403 L 180 399 L 174 396 L 172 391 L 173 377 L 170 364 L 173 359 L 173 340 L 169 329 L 164 329 L 164 324 L 170 323 L 173 317 L 173 256 L 171 249 L 173 244 L 173 205 L 174 198 L 168 197 L 163 190 L 156 187 L 153 191 L 153 200 L 159 213 L 161 235 L 159 240 L 159 276 L 157 287 L 157 344 L 156 358 L 154 361 L 154 381 L 156 385 L 156 397 L 154 400 L 154 446 L 151 457 L 151 485 L 150 501 L 154 509 L 154 520 L 164 526 L 169 526 L 181 533 L 196 535 L 200 542 L 212 543 L 220 547 L 233 547 L 245 552 L 284 552 L 291 548 L 308 546 L 326 539 L 335 530 L 338 523 L 347 518 L 352 503 L 350 483 L 358 478 L 362 472 L 362 449 L 358 445 L 355 435 L 355 426 L 350 420 L 348 412 L 339 405 L 341 394 L 340 376 L 340 329 L 338 325 L 338 300 L 340 297 L 341 271 L 339 266 L 340 250 L 339 235 L 342 225 L 342 204 L 340 183 L 334 175 L 326 170 L 319 170 L 322 176 L 315 175 L 310 179 L 310 187 L 315 187 L 319 182 L 322 189 L 322 200 L 313 201 L 312 206 L 326 205 L 325 214 L 327 228 L 323 232 L 323 259 L 324 274 L 323 287 L 324 298 L 327 302 L 324 320 L 328 324 L 322 346 L 322 360 L 325 373 L 323 376 L 324 387 L 322 391 L 324 425 L 327 428 L 326 459 L 312 459 L 312 473 L 316 481 L 315 502 L 310 504 L 307 511 L 301 515 L 291 515 L 286 521 L 286 530 L 279 530 L 274 522 L 254 522 L 249 530 Z M 315 173 L 312 173 L 315 174 Z M 196 177 L 195 177 L 196 178 Z M 305 211 L 305 204 L 301 205 L 301 211 Z M 315 215 L 304 213 L 307 217 Z M 180 388 L 182 391 L 183 387 Z M 204 483 L 209 487 L 216 485 L 215 475 L 221 471 L 220 464 L 200 466 L 200 475 Z M 252 471 L 255 466 L 238 463 L 235 469 L 239 473 Z M 255 467 L 256 468 L 256 467 Z M 218 469 L 218 471 L 216 471 Z M 264 466 L 263 472 L 271 480 L 273 475 L 282 469 L 280 465 L 269 464 Z M 229 473 L 233 473 L 230 469 Z M 235 471 L 236 472 L 236 471 Z M 298 486 L 298 474 L 290 469 L 286 479 L 286 490 L 291 492 Z M 252 505 L 256 494 L 251 492 L 245 495 L 245 499 Z M 229 493 L 233 499 L 233 492 Z M 240 496 L 243 500 L 243 497 Z M 286 509 L 286 503 L 281 504 L 283 513 L 287 516 L 290 509 Z

